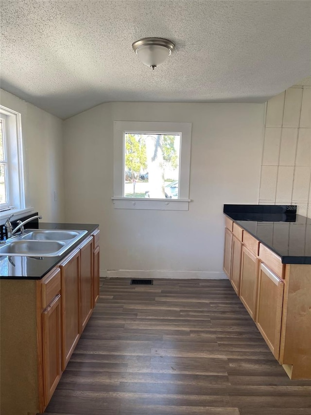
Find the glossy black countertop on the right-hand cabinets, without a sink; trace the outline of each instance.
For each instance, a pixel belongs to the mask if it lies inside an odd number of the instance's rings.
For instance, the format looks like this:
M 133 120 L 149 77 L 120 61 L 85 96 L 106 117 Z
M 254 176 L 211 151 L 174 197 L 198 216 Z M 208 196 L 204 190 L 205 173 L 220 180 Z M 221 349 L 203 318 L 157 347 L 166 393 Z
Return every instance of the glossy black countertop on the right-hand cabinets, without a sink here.
M 280 256 L 283 264 L 311 264 L 310 218 L 281 212 L 225 210 L 224 208 L 227 217 Z

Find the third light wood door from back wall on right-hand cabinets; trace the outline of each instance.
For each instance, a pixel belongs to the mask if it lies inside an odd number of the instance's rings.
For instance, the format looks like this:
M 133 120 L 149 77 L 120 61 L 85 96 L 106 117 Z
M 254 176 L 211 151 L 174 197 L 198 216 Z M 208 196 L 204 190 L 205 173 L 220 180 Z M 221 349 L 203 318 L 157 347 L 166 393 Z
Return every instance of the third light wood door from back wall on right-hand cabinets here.
M 240 299 L 255 320 L 257 306 L 259 259 L 247 248 L 242 248 Z

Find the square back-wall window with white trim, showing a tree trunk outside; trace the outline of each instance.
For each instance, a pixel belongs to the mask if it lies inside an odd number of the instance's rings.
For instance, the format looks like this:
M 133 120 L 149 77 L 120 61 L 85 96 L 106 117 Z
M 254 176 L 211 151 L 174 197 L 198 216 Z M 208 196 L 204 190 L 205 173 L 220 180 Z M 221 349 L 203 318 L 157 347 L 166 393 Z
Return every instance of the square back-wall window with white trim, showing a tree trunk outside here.
M 114 122 L 114 207 L 188 210 L 191 123 Z

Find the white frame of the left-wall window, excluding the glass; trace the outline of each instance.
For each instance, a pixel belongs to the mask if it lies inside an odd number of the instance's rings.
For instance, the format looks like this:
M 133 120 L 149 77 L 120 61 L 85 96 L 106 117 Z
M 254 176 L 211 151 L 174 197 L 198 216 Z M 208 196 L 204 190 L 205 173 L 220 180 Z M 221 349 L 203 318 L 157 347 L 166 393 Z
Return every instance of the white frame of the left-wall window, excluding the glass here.
M 0 105 L 0 117 L 5 119 L 7 156 L 7 203 L 0 205 L 0 217 L 25 209 L 25 187 L 21 114 Z

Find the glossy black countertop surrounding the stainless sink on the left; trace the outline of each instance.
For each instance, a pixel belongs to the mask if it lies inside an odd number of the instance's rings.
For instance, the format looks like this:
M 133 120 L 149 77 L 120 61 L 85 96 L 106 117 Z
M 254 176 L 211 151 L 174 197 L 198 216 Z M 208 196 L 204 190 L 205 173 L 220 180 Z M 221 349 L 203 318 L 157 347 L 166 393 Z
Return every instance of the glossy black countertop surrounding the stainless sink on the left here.
M 66 229 L 66 230 L 86 230 L 87 234 L 81 238 L 63 255 L 60 256 L 2 256 L 0 255 L 0 279 L 24 279 L 39 280 L 44 277 L 52 268 L 55 267 L 63 258 L 73 251 L 83 239 L 90 235 L 99 225 L 86 223 L 44 223 L 28 229 Z

